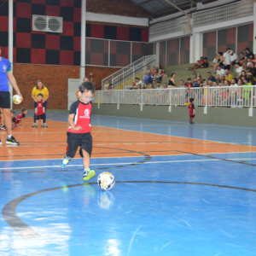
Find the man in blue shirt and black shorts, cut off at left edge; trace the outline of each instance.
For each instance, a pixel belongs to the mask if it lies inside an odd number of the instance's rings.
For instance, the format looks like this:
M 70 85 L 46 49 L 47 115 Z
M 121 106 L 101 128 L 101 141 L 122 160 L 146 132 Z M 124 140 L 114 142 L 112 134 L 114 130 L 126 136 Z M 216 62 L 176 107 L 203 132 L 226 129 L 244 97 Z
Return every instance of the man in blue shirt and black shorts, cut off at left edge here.
M 15 140 L 15 137 L 12 136 L 12 120 L 11 120 L 11 114 L 10 114 L 10 93 L 9 93 L 9 84 L 12 84 L 14 87 L 17 95 L 20 94 L 20 89 L 16 83 L 15 77 L 12 73 L 12 66 L 9 60 L 1 57 L 1 46 L 0 46 L 0 108 L 3 109 L 3 116 L 4 116 L 4 125 L 7 130 L 7 140 L 6 144 L 11 145 L 19 145 Z M 0 145 L 2 144 L 0 140 Z

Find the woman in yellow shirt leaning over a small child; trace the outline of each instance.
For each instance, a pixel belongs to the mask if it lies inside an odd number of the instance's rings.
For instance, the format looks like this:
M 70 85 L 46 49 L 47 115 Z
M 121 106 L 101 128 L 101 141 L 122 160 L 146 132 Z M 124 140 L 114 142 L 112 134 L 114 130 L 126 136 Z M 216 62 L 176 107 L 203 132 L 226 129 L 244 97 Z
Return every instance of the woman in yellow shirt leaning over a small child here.
M 49 90 L 44 86 L 44 83 L 42 80 L 38 80 L 37 86 L 33 88 L 32 90 L 32 99 L 34 100 L 34 108 L 37 108 L 37 102 L 38 102 L 38 94 L 43 95 L 43 103 L 44 103 L 44 108 L 45 108 L 45 113 L 44 113 L 44 127 L 48 127 L 46 125 L 46 108 L 47 108 L 47 100 L 49 99 Z M 36 113 L 34 113 L 34 124 L 32 127 L 36 127 Z

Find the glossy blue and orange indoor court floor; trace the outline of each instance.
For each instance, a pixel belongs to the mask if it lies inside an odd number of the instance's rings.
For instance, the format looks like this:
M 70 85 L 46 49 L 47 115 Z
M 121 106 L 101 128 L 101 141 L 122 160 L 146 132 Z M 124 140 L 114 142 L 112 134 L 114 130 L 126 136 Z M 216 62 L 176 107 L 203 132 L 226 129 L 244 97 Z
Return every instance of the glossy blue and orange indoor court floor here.
M 67 113 L 48 118 L 0 148 L 1 256 L 255 255 L 254 127 L 92 115 L 84 183 L 79 152 L 60 167 Z

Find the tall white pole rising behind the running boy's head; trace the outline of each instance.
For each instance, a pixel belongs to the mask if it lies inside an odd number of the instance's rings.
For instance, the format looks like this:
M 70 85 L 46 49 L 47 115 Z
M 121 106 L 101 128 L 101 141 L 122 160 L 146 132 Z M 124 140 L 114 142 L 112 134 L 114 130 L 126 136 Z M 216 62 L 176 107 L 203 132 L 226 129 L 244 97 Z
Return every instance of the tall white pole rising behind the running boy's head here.
M 85 76 L 85 37 L 86 37 L 86 0 L 82 0 L 81 8 L 81 64 L 80 64 L 80 83 L 82 84 Z

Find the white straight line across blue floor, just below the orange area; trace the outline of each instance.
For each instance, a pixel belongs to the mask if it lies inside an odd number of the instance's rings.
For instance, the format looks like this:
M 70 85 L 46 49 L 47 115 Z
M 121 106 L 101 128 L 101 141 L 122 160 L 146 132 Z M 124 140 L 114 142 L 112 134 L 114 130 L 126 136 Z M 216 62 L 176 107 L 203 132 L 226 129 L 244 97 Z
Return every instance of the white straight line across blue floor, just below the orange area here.
M 231 158 L 227 160 L 256 160 L 256 158 Z M 171 161 L 150 161 L 144 162 L 143 164 L 164 164 L 164 163 L 181 163 L 181 162 L 204 162 L 204 161 L 221 161 L 221 159 L 201 159 L 201 160 L 171 160 Z M 130 163 L 113 163 L 113 164 L 91 164 L 90 166 L 120 166 L 120 165 L 130 165 Z M 83 166 L 83 165 L 70 165 L 68 167 L 75 167 L 75 166 Z M 8 168 L 0 168 L 0 170 L 18 170 L 18 169 L 38 169 L 38 168 L 53 168 L 53 167 L 60 167 L 60 166 L 29 166 L 29 167 L 8 167 Z

